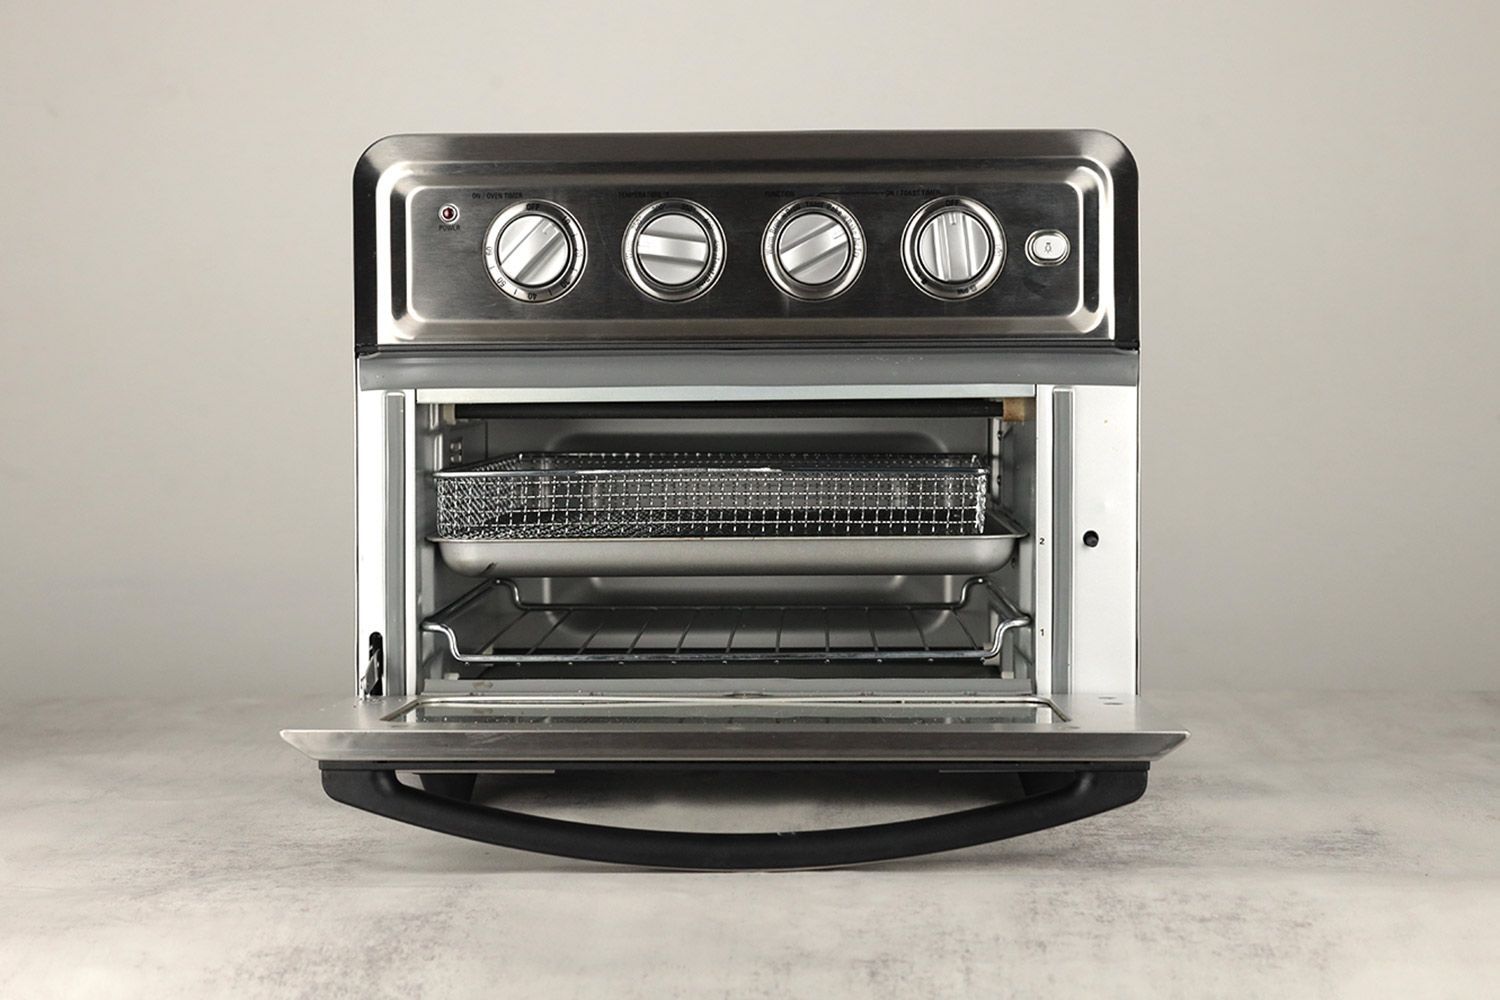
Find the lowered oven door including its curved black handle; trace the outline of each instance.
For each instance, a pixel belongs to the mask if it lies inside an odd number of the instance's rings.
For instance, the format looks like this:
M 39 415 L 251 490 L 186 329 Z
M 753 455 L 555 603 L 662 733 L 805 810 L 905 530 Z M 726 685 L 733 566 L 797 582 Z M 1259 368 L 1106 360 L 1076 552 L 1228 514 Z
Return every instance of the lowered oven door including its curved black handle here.
M 1150 762 L 1186 738 L 1126 696 L 783 685 L 682 693 L 638 679 L 375 697 L 330 706 L 282 736 L 320 762 L 332 798 L 370 813 L 520 850 L 690 870 L 846 865 L 1047 829 L 1136 801 Z M 764 834 L 600 826 L 468 801 L 476 772 L 621 766 L 994 771 L 1016 772 L 1026 793 L 897 823 Z M 417 774 L 423 787 L 398 772 Z

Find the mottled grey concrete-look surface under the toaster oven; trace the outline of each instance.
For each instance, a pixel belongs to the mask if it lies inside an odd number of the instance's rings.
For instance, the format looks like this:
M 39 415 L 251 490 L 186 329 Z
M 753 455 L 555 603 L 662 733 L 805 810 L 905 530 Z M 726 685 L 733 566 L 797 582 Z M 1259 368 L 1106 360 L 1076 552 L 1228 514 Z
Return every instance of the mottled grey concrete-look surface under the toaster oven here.
M 9 705 L 0 996 L 1500 996 L 1500 696 L 1154 700 L 1194 738 L 1136 805 L 788 874 L 570 864 L 339 807 L 276 736 L 292 702 Z M 550 808 L 878 817 L 826 784 L 690 786 L 585 780 Z

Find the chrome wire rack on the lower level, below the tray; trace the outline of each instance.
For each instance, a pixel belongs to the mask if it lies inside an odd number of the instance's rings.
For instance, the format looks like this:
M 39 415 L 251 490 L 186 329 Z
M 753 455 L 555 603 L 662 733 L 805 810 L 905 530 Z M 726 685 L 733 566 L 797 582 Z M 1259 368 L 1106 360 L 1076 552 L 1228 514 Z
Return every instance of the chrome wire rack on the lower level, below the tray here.
M 1030 618 L 988 579 L 951 603 L 602 606 L 530 603 L 486 580 L 422 622 L 459 663 L 984 661 Z

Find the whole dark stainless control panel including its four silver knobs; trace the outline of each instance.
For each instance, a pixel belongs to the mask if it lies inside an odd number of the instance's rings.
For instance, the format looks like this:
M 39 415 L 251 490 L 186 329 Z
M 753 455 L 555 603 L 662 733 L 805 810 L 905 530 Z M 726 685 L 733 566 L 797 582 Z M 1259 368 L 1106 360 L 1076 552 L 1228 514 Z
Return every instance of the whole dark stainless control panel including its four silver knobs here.
M 393 136 L 357 340 L 1131 346 L 1134 184 L 1100 132 Z

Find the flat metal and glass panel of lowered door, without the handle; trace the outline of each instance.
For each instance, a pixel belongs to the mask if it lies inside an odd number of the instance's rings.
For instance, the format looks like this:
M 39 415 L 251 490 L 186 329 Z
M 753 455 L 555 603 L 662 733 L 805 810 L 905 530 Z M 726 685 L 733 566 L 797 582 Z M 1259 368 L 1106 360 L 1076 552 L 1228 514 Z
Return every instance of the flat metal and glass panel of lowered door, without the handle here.
M 510 694 L 462 696 L 483 717 L 410 721 L 422 699 L 345 700 L 327 706 L 282 738 L 315 760 L 474 763 L 542 762 L 1142 762 L 1158 760 L 1186 739 L 1128 694 L 987 696 L 981 690 L 936 696 L 933 685 L 906 696 L 824 697 L 807 705 L 788 685 L 760 682 L 754 697 L 694 693 L 632 697 L 628 688 L 573 681 L 572 694 L 538 696 L 540 682 L 514 682 Z M 783 682 L 784 684 L 784 682 Z M 530 685 L 530 687 L 528 687 Z M 696 697 L 694 697 L 696 696 Z M 624 700 L 616 705 L 610 699 Z M 694 700 L 712 699 L 708 709 Z M 442 702 L 456 700 L 446 696 Z M 1041 703 L 1048 721 L 1014 721 Z M 548 721 L 560 708 L 567 721 Z M 990 718 L 986 718 L 988 712 Z M 579 718 L 591 714 L 594 720 Z M 476 712 L 478 715 L 478 712 Z M 531 715 L 536 721 L 525 721 Z M 850 718 L 852 715 L 852 718 Z M 782 717 L 780 721 L 768 721 Z M 962 721 L 948 721 L 948 720 Z M 746 721 L 754 720 L 754 721 Z M 993 720 L 993 721 L 992 721 Z

